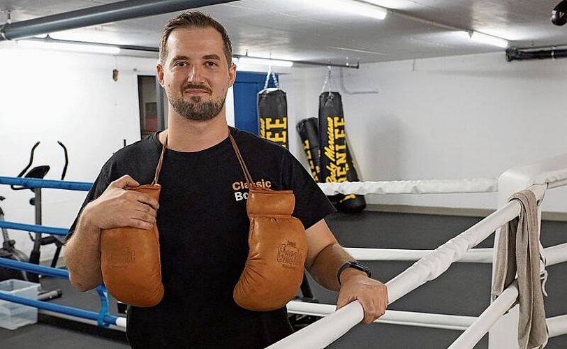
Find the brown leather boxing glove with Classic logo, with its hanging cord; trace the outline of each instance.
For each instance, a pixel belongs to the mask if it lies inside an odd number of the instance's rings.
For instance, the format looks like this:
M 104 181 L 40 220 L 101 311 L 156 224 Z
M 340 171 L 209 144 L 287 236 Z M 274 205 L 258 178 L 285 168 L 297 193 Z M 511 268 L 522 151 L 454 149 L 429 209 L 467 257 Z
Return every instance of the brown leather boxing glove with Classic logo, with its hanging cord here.
M 305 230 L 301 221 L 291 216 L 293 192 L 255 186 L 233 136 L 229 138 L 250 188 L 246 202 L 249 253 L 233 299 L 252 311 L 280 309 L 293 299 L 303 280 Z

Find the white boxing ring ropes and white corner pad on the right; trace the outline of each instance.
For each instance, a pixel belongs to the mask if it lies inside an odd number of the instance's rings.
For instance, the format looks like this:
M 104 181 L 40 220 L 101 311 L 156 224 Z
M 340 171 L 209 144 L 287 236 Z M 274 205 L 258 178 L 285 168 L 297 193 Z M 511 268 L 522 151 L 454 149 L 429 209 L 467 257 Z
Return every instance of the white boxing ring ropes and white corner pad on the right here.
M 327 195 L 343 194 L 425 194 L 425 193 L 489 193 L 498 191 L 499 209 L 482 221 L 450 239 L 433 251 L 388 250 L 378 248 L 347 248 L 359 260 L 417 260 L 411 267 L 395 276 L 385 285 L 388 287 L 388 302 L 395 302 L 428 281 L 443 274 L 453 262 L 492 263 L 493 248 L 474 246 L 496 232 L 494 245 L 499 239 L 502 225 L 519 216 L 521 205 L 508 198 L 517 191 L 527 189 L 543 200 L 545 192 L 567 185 L 567 154 L 547 158 L 538 163 L 518 166 L 507 170 L 498 179 L 481 178 L 450 181 L 380 181 L 364 183 L 321 184 Z M 538 208 L 538 225 L 541 209 Z M 544 248 L 545 266 L 567 261 L 567 244 Z M 493 270 L 494 274 L 494 270 Z M 489 295 L 487 295 L 489 297 Z M 473 348 L 480 339 L 499 327 L 499 338 L 489 336 L 489 348 L 517 348 L 517 306 L 506 316 L 518 297 L 517 283 L 512 283 L 478 317 L 390 311 L 376 320 L 380 323 L 412 325 L 464 331 L 449 347 L 450 349 Z M 358 301 L 334 311 L 331 304 L 309 304 L 292 301 L 290 313 L 325 316 L 321 320 L 300 329 L 268 348 L 325 348 L 357 325 L 364 313 Z M 549 337 L 567 334 L 567 315 L 547 318 Z M 494 337 L 494 338 L 493 338 Z

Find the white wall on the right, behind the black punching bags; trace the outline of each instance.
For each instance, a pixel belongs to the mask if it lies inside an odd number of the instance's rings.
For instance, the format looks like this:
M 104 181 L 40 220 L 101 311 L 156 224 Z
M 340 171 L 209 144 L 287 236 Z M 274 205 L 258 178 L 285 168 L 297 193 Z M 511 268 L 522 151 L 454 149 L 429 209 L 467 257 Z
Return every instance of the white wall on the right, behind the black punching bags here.
M 567 60 L 508 63 L 497 53 L 344 70 L 348 91 L 378 94 L 346 94 L 339 70 L 333 72 L 362 180 L 498 177 L 515 165 L 567 152 L 561 107 Z M 326 74 L 326 68 L 310 68 L 302 79 L 296 77 L 295 95 L 302 95 L 294 105 L 296 114 L 317 115 Z M 543 209 L 566 211 L 564 198 L 550 193 Z M 369 195 L 367 200 L 496 208 L 495 194 Z

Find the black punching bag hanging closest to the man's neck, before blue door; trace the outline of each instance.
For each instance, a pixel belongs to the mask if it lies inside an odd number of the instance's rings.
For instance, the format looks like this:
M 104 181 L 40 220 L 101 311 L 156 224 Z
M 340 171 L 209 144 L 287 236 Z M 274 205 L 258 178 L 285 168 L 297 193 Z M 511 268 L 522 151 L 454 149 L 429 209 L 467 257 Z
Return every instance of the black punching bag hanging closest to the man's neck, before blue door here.
M 258 130 L 260 138 L 288 148 L 288 102 L 281 89 L 258 92 Z

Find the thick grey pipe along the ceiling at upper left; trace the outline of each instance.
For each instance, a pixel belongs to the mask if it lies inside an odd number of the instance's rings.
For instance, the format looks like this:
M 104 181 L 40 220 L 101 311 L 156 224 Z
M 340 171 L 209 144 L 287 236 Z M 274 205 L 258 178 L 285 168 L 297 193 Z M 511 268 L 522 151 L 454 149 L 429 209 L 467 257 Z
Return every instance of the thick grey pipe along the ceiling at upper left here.
M 126 0 L 93 6 L 57 15 L 6 23 L 0 26 L 0 41 L 17 40 L 64 31 L 89 27 L 96 24 L 129 20 L 131 18 L 161 15 L 189 8 L 229 3 L 236 0 Z

